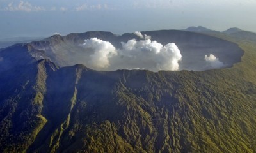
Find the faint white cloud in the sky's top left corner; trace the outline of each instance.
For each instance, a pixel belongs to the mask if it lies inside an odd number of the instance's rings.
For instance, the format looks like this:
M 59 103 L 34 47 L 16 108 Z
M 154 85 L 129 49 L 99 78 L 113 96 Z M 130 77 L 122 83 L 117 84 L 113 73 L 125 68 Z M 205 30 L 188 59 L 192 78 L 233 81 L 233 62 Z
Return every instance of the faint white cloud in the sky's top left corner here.
M 19 4 L 14 5 L 13 2 L 9 3 L 8 6 L 4 9 L 6 11 L 45 11 L 44 8 L 40 6 L 32 6 L 32 4 L 28 3 L 27 1 L 20 1 Z

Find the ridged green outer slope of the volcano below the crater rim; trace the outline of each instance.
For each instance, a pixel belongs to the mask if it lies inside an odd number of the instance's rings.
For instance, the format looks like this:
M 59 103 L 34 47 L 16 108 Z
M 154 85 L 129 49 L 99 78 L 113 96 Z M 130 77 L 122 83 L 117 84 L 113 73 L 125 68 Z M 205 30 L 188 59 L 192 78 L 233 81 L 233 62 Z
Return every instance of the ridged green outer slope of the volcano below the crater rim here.
M 256 44 L 224 39 L 244 50 L 227 69 L 2 72 L 0 152 L 256 152 Z

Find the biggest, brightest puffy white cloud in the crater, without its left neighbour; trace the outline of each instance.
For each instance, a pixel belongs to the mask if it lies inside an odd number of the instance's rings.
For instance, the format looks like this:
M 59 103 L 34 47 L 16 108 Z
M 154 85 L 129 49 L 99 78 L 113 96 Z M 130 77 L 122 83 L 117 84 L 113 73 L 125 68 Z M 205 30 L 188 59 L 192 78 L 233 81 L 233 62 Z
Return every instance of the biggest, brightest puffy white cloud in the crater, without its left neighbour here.
M 149 39 L 129 40 L 127 43 L 122 43 L 122 47 L 118 53 L 131 68 L 138 67 L 151 71 L 179 69 L 179 61 L 182 56 L 175 43 L 163 46 L 161 43 Z

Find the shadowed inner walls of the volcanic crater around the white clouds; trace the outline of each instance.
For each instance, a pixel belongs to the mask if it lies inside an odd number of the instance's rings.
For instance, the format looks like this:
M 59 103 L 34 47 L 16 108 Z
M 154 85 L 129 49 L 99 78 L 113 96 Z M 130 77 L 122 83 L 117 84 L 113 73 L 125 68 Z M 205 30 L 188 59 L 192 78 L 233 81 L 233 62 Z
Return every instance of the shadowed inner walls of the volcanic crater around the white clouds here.
M 243 51 L 234 43 L 205 34 L 178 30 L 142 31 L 141 33 L 151 36 L 152 41 L 157 41 L 162 45 L 175 43 L 179 47 L 183 59 L 179 63 L 180 69 L 194 71 L 211 69 L 210 66 L 202 68 L 202 65 L 205 65 L 204 57 L 206 54 L 216 55 L 221 62 L 224 62 L 225 67 L 230 67 L 234 63 L 241 61 L 241 56 L 243 55 Z M 41 50 L 44 53 L 42 57 L 51 59 L 52 62 L 59 66 L 72 66 L 77 63 L 88 66 L 86 61 L 90 61 L 89 58 L 92 53 L 90 53 L 90 50 L 84 52 L 85 49 L 82 44 L 84 40 L 94 36 L 97 36 L 102 41 L 108 41 L 116 50 L 122 49 L 122 42 L 126 43 L 132 39 L 141 40 L 141 38 L 131 33 L 115 36 L 110 32 L 95 31 L 67 36 L 56 35 L 42 41 L 33 41 L 29 45 L 35 50 Z M 197 59 L 195 59 L 196 57 Z M 120 68 L 99 70 L 113 71 L 116 69 Z

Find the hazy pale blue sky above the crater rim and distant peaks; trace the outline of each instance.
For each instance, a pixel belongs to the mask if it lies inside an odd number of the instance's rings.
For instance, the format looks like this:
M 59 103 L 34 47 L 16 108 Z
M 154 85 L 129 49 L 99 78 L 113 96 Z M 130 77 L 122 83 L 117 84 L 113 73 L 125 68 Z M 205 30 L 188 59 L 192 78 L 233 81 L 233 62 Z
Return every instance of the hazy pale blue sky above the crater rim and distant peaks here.
M 0 38 L 202 25 L 256 31 L 256 0 L 0 0 Z

